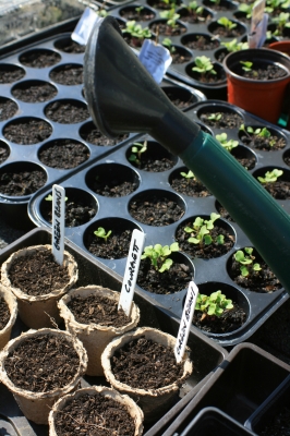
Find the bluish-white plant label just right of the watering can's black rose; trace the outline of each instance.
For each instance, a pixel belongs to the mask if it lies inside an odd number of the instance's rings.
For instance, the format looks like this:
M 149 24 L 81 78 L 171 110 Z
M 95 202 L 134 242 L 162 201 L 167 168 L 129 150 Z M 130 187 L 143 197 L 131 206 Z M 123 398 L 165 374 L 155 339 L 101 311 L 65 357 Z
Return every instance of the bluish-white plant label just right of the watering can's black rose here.
M 150 39 L 144 40 L 138 59 L 158 84 L 172 62 L 169 50 Z

